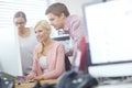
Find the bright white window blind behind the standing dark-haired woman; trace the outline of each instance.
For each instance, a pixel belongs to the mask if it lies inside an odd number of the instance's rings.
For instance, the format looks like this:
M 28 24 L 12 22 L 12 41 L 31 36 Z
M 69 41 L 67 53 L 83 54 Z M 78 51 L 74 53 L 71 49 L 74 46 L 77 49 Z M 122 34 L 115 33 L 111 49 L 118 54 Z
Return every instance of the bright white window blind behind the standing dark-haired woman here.
M 0 0 L 0 29 L 13 26 L 16 11 L 26 14 L 26 26 L 34 26 L 38 20 L 46 19 L 45 9 L 55 0 Z

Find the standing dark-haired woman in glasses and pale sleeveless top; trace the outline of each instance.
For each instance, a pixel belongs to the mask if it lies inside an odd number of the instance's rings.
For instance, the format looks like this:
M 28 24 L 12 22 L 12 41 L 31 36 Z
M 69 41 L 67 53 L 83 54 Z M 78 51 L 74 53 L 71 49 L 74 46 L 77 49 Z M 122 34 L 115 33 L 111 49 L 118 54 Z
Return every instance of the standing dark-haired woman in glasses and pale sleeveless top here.
M 26 28 L 26 15 L 22 11 L 14 14 L 13 23 L 18 30 L 23 75 L 30 74 L 33 63 L 33 50 L 37 44 L 34 30 Z

